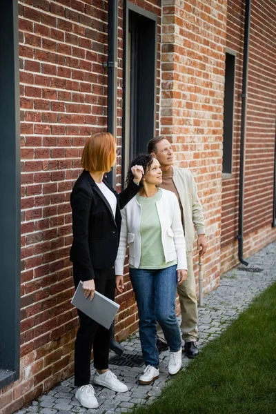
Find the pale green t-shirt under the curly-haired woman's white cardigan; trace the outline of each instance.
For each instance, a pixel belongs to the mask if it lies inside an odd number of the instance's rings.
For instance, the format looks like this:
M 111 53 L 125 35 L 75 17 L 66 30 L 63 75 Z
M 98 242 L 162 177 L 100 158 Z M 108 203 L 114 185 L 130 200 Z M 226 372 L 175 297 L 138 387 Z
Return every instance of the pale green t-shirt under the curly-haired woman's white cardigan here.
M 177 264 L 177 259 L 172 262 L 165 262 L 161 225 L 156 207 L 156 202 L 161 197 L 161 190 L 158 190 L 153 197 L 136 195 L 137 201 L 141 206 L 139 228 L 141 235 L 141 259 L 139 269 L 163 269 Z

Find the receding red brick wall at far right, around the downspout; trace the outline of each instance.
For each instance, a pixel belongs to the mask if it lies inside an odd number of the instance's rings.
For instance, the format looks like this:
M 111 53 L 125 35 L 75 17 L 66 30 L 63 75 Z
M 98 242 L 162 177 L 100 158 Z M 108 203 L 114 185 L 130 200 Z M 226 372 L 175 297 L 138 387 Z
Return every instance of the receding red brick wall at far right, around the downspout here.
M 244 177 L 244 257 L 276 239 L 273 221 L 275 151 L 276 10 L 273 1 L 253 0 L 248 67 L 248 112 Z M 237 264 L 239 137 L 241 120 L 244 1 L 228 1 L 228 48 L 237 52 L 233 178 L 223 180 L 221 272 Z

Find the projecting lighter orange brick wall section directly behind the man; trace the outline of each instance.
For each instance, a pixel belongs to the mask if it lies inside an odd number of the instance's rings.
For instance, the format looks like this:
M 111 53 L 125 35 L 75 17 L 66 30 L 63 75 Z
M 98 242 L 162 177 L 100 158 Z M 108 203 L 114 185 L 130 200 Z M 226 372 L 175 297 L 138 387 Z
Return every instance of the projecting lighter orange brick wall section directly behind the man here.
M 206 220 L 208 292 L 220 274 L 226 1 L 166 0 L 162 29 L 161 135 L 172 141 L 177 164 L 195 175 Z

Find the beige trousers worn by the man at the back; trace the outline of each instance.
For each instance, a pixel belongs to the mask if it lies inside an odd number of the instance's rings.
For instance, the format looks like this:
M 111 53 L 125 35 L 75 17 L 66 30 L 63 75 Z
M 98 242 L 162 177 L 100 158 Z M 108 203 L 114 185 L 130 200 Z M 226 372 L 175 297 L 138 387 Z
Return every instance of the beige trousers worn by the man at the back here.
M 181 308 L 180 328 L 185 342 L 195 342 L 197 340 L 197 295 L 193 271 L 193 250 L 187 252 L 187 266 L 187 279 L 177 288 Z M 159 324 L 157 324 L 157 336 L 166 340 Z

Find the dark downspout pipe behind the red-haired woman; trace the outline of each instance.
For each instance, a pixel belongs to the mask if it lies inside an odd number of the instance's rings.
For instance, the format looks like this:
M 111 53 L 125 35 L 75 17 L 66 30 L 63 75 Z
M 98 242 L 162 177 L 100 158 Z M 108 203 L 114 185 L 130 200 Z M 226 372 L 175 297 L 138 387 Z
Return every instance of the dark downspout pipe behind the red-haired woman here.
M 108 132 L 117 137 L 118 0 L 108 0 Z M 108 182 L 116 189 L 116 166 L 108 172 Z M 110 327 L 111 351 L 121 355 L 124 347 L 115 340 L 115 322 Z

